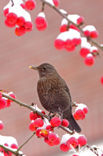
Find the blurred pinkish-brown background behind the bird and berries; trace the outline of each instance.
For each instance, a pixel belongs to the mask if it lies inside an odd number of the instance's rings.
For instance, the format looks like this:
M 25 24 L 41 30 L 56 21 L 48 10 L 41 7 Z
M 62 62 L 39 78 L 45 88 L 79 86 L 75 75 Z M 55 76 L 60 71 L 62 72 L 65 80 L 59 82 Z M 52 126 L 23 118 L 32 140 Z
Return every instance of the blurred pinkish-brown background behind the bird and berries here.
M 58 51 L 54 48 L 54 40 L 59 34 L 61 17 L 46 7 L 48 28 L 39 32 L 35 25 L 32 32 L 22 37 L 14 34 L 14 29 L 4 25 L 2 8 L 8 0 L 0 1 L 0 89 L 13 91 L 18 100 L 27 104 L 36 103 L 40 108 L 37 96 L 38 74 L 28 68 L 44 62 L 53 64 L 67 82 L 73 101 L 85 103 L 89 107 L 86 119 L 79 122 L 82 133 L 89 143 L 103 139 L 103 86 L 100 77 L 103 75 L 103 54 L 96 58 L 94 66 L 85 66 L 79 55 L 79 48 L 74 52 Z M 60 0 L 60 7 L 70 14 L 80 14 L 85 24 L 93 24 L 99 31 L 98 42 L 103 43 L 103 1 L 99 0 Z M 32 12 L 32 20 L 40 11 L 41 3 L 37 2 Z M 32 133 L 28 126 L 29 110 L 13 103 L 8 109 L 0 110 L 0 120 L 5 124 L 1 135 L 14 136 L 19 145 Z M 54 155 L 60 152 L 59 147 L 49 147 L 43 140 L 32 138 L 23 147 L 27 156 Z

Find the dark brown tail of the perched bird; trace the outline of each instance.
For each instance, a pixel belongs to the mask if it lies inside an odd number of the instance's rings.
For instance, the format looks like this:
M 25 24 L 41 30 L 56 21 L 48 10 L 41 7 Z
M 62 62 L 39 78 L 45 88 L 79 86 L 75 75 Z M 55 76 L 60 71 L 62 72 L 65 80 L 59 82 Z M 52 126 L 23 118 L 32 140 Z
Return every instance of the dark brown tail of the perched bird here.
M 80 133 L 81 132 L 81 128 L 77 124 L 77 122 L 75 121 L 73 115 L 71 115 L 71 117 L 68 120 L 69 120 L 69 126 L 68 126 L 68 128 L 70 130 L 75 130 L 76 132 Z

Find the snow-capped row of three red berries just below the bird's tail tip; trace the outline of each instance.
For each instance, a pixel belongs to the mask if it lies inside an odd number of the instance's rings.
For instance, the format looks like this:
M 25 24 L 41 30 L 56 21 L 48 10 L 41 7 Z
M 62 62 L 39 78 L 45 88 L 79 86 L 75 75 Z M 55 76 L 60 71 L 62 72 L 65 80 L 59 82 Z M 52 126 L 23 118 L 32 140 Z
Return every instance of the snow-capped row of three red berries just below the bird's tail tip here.
M 60 149 L 64 152 L 67 152 L 71 149 L 85 146 L 86 144 L 87 139 L 84 135 L 80 135 L 78 133 L 75 133 L 73 135 L 65 134 L 62 136 Z

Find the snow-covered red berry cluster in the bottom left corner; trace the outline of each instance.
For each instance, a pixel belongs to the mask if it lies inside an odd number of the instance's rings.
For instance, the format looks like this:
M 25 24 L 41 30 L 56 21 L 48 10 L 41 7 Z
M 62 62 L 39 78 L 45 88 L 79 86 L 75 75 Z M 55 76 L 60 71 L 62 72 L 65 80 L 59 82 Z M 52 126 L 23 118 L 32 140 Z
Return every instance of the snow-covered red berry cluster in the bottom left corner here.
M 10 148 L 11 150 L 17 150 L 18 149 L 18 143 L 14 137 L 11 136 L 2 136 L 0 135 L 0 145 L 3 145 L 4 147 Z M 3 156 L 12 156 L 13 154 L 10 151 L 7 151 L 0 147 L 0 155 Z

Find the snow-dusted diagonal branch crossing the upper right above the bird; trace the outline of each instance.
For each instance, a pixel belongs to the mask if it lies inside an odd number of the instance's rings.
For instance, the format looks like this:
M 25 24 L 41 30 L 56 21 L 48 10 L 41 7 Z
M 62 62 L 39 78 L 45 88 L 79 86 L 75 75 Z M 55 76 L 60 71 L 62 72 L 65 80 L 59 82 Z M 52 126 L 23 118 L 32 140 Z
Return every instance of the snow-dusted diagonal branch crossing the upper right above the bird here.
M 72 22 L 71 20 L 68 19 L 66 14 L 63 14 L 61 12 L 60 9 L 58 9 L 57 7 L 53 6 L 52 4 L 50 4 L 49 2 L 45 1 L 45 0 L 41 0 L 42 3 L 45 3 L 46 5 L 48 5 L 50 8 L 52 8 L 53 10 L 55 10 L 60 16 L 62 16 L 63 18 L 65 18 L 69 23 L 73 24 L 74 26 L 76 26 L 80 32 L 84 35 L 84 32 L 82 30 L 82 28 L 80 27 L 80 25 L 75 24 L 74 22 Z M 85 35 L 84 35 L 85 36 Z M 86 36 L 85 36 L 86 37 Z M 88 37 L 86 37 L 88 40 Z M 88 40 L 91 44 L 95 45 L 97 48 L 99 48 L 100 50 L 103 51 L 103 46 L 101 46 L 100 44 L 98 44 L 97 42 L 95 42 L 94 40 L 92 40 L 91 38 L 89 38 Z

